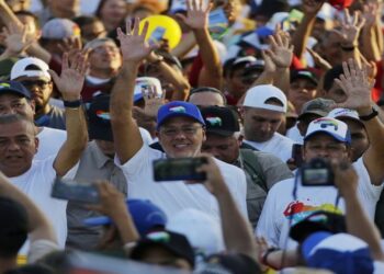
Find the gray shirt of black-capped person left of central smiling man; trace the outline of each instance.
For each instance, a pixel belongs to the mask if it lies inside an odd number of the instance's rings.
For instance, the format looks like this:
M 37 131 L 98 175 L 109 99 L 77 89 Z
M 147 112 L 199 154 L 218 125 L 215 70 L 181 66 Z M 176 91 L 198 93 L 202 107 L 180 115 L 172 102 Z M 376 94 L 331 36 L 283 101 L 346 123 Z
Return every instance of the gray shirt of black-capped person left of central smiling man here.
M 127 182 L 114 160 L 106 157 L 98 147 L 95 141 L 88 144 L 80 159 L 79 169 L 75 176 L 79 183 L 108 180 L 125 196 L 127 195 Z M 67 247 L 94 250 L 100 238 L 101 227 L 86 227 L 83 220 L 100 216 L 98 213 L 87 210 L 81 204 L 72 202 L 67 206 L 68 237 Z

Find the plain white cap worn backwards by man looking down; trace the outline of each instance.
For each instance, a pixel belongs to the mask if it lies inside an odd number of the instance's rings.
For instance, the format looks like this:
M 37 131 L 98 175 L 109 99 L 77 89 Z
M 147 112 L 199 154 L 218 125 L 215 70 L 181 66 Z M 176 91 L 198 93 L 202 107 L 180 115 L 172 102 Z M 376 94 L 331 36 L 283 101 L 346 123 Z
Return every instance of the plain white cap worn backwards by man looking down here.
M 275 99 L 282 105 L 266 103 L 270 99 Z M 247 91 L 244 106 L 270 110 L 286 113 L 287 102 L 284 92 L 272 84 L 256 85 Z

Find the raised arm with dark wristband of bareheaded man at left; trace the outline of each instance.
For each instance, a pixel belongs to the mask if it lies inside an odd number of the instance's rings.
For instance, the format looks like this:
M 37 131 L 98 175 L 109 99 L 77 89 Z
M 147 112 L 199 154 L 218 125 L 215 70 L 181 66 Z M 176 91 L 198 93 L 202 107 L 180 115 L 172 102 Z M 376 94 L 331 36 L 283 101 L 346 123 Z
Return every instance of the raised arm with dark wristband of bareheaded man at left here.
M 66 106 L 67 139 L 58 151 L 54 163 L 59 176 L 64 176 L 80 160 L 88 142 L 87 122 L 80 101 L 87 69 L 88 62 L 84 54 L 78 54 L 70 66 L 68 65 L 68 54 L 64 54 L 60 77 L 55 71 L 49 70 Z

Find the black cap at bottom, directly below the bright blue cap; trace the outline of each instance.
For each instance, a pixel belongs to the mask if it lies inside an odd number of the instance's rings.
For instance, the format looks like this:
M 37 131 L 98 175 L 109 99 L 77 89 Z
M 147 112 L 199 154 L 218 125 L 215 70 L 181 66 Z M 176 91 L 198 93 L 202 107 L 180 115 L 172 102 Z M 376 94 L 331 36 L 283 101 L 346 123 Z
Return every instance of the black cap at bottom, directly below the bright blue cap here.
M 139 261 L 144 252 L 154 247 L 160 247 L 171 252 L 178 258 L 185 259 L 191 266 L 194 266 L 194 251 L 187 237 L 169 230 L 147 233 L 138 240 L 136 247 L 131 252 L 131 259 Z

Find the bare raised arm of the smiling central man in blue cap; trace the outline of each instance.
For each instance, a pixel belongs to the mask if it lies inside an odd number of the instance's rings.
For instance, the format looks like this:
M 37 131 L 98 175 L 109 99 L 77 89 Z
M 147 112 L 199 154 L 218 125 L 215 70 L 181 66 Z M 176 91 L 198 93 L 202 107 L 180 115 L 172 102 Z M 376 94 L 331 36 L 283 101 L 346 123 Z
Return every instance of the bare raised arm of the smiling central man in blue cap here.
M 145 42 L 148 23 L 145 24 L 140 34 L 138 24 L 138 19 L 135 19 L 133 27 L 131 22 L 127 21 L 126 34 L 117 28 L 123 66 L 112 89 L 110 115 L 116 153 L 123 164 L 143 147 L 142 135 L 132 116 L 133 93 L 138 67 L 154 49 L 154 46 L 149 46 Z

